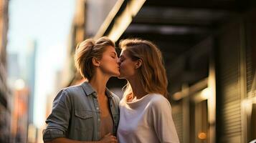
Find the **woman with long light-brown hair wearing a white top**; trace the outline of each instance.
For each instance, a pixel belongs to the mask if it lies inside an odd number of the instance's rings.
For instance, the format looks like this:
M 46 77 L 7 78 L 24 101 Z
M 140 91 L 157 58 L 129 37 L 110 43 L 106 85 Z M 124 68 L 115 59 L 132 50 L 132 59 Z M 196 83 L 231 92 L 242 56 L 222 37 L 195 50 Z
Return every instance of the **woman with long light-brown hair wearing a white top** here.
M 168 99 L 161 51 L 151 41 L 120 41 L 120 79 L 126 79 L 121 99 L 118 142 L 179 142 Z

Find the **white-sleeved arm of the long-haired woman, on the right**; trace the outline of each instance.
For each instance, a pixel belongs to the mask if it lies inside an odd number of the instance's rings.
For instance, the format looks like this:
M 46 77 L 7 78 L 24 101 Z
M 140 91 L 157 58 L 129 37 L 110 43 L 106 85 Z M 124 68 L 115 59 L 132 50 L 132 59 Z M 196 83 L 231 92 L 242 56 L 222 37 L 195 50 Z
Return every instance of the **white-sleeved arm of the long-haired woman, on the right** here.
M 160 142 L 179 143 L 171 116 L 171 104 L 167 99 L 163 98 L 153 102 L 153 127 Z

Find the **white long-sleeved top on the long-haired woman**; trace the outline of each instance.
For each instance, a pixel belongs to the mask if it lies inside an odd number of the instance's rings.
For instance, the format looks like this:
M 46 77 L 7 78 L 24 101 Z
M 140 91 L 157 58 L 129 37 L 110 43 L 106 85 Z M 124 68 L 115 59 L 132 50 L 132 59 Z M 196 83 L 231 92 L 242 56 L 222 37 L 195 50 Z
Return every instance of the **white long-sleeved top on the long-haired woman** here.
M 119 107 L 119 143 L 179 142 L 171 104 L 161 94 L 146 94 L 133 102 L 124 97 Z

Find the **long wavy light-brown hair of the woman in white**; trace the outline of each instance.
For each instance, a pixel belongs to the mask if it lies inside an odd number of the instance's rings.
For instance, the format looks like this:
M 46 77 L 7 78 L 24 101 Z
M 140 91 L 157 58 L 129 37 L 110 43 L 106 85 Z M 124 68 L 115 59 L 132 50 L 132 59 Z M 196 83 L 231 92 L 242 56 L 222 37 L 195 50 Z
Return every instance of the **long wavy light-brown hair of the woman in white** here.
M 148 93 L 162 94 L 167 98 L 168 80 L 164 68 L 161 51 L 151 41 L 142 39 L 124 39 L 119 47 L 128 52 L 128 56 L 136 61 L 142 60 L 138 69 L 139 79 Z M 131 94 L 131 85 L 126 85 L 124 96 Z

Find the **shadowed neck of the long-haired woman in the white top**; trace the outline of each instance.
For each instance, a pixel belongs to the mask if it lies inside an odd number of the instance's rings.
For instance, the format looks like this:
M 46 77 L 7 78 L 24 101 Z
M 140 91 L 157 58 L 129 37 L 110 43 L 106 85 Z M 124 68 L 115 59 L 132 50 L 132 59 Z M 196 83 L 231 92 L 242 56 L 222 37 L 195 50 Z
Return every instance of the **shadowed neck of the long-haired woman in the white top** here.
M 138 77 L 128 79 L 128 82 L 131 84 L 133 98 L 141 99 L 146 94 L 148 94 L 148 92 L 146 92 L 144 87 L 142 86 L 141 81 Z

